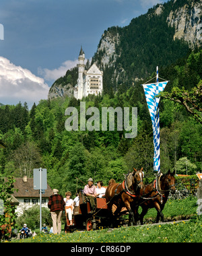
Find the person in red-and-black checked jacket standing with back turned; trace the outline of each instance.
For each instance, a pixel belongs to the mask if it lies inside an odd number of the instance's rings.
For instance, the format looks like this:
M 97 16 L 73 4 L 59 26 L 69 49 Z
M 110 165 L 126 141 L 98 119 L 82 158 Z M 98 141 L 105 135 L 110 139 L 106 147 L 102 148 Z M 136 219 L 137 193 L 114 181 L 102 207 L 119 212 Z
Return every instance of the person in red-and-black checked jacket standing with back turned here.
M 53 195 L 48 198 L 48 208 L 53 220 L 53 234 L 61 234 L 61 216 L 65 207 L 65 201 L 58 192 L 57 189 L 53 189 Z

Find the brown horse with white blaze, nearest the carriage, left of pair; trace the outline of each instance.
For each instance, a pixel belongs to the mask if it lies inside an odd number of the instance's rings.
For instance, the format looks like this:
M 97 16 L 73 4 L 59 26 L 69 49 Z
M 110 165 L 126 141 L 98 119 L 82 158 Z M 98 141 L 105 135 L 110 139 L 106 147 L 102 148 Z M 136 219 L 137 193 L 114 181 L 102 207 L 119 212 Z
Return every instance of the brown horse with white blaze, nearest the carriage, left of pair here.
M 121 212 L 122 207 L 126 207 L 129 211 L 129 221 L 132 219 L 133 224 L 137 224 L 135 219 L 135 201 L 138 199 L 139 191 L 143 187 L 143 168 L 125 175 L 123 183 L 111 183 L 106 189 L 105 197 L 108 203 L 108 210 L 111 220 L 116 220 Z M 116 205 L 117 209 L 112 214 L 112 205 Z

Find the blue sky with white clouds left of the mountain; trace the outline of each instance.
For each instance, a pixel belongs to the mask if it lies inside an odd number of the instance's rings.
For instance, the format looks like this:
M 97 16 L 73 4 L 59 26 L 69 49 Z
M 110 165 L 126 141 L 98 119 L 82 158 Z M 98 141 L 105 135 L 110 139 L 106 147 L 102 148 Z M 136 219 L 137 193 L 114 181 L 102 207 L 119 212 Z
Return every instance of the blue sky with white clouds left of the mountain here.
M 76 65 L 81 45 L 90 59 L 111 26 L 164 0 L 1 0 L 0 102 L 32 106 Z M 0 36 L 1 38 L 1 36 Z

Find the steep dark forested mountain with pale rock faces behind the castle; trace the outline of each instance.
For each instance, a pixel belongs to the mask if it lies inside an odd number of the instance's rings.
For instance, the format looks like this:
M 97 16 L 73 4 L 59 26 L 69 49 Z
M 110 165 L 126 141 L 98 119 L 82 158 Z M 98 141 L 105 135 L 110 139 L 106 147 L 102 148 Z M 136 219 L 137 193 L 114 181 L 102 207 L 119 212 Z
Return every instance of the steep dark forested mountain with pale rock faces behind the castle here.
M 166 67 L 190 49 L 201 48 L 201 3 L 171 0 L 134 18 L 129 26 L 105 30 L 92 58 L 92 63 L 104 71 L 104 92 L 127 90 L 139 79 L 149 77 L 156 65 Z M 73 88 L 66 86 L 65 80 L 67 77 L 53 84 L 48 98 L 72 95 Z M 71 85 L 75 86 L 75 81 Z

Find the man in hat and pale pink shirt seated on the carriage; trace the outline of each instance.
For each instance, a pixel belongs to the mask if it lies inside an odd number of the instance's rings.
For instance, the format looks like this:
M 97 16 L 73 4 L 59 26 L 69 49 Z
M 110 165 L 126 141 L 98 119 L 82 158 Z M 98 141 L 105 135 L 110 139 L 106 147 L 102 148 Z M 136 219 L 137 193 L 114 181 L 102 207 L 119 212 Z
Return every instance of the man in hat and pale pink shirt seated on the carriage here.
M 90 213 L 93 213 L 96 210 L 96 186 L 94 186 L 92 178 L 88 179 L 88 184 L 84 187 L 83 193 L 90 200 L 92 207 L 92 212 Z

